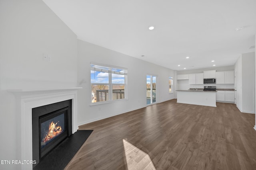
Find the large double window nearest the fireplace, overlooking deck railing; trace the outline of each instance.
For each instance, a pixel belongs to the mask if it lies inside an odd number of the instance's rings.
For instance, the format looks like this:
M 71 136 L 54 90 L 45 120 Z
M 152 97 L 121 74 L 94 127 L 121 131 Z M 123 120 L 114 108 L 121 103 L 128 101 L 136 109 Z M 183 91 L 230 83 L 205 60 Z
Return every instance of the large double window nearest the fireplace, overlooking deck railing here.
M 91 64 L 92 103 L 126 98 L 127 69 Z

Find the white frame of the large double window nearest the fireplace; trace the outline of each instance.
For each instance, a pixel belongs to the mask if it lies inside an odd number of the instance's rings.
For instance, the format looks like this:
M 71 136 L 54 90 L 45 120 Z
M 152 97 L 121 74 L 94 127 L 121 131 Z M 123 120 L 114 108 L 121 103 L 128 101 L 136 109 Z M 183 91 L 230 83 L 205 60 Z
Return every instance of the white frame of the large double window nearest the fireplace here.
M 128 100 L 128 96 L 127 96 L 127 77 L 128 77 L 127 72 L 128 72 L 128 69 L 127 68 L 123 68 L 123 67 L 119 67 L 119 66 L 112 66 L 112 65 L 108 65 L 108 64 L 90 63 L 90 71 L 93 70 L 92 68 L 95 68 L 92 65 L 108 68 L 108 70 L 94 69 L 94 71 L 107 72 L 108 73 L 108 83 L 95 83 L 95 82 L 92 82 L 92 77 L 90 75 L 90 85 L 91 85 L 90 86 L 90 90 L 91 90 L 90 105 L 97 105 L 97 104 L 104 104 L 104 103 Z M 113 71 L 113 69 L 122 69 L 122 70 L 124 70 L 124 73 L 121 74 L 121 75 L 124 75 L 124 83 L 112 83 L 112 74 L 117 74 L 117 72 Z M 101 101 L 101 102 L 92 102 L 92 86 L 93 85 L 108 85 L 108 100 Z M 124 86 L 124 98 L 113 100 L 113 86 L 114 85 Z

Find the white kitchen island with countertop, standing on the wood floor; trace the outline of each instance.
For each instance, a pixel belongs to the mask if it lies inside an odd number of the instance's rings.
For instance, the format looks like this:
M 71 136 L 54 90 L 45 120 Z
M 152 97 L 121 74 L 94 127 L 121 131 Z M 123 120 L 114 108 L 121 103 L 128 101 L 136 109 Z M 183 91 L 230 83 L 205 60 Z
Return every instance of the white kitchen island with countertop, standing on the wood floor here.
M 176 90 L 177 103 L 216 107 L 216 91 Z

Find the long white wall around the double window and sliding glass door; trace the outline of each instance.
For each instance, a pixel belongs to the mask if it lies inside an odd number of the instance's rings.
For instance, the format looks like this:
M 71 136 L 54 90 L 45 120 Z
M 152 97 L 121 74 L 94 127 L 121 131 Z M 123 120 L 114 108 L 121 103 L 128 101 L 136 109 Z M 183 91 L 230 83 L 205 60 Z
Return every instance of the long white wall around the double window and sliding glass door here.
M 128 100 L 90 106 L 90 62 L 128 68 Z M 175 98 L 175 93 L 168 91 L 168 78 L 175 77 L 174 70 L 81 40 L 78 40 L 78 64 L 78 86 L 83 87 L 78 94 L 79 125 L 146 107 L 147 74 L 157 76 L 158 102 Z

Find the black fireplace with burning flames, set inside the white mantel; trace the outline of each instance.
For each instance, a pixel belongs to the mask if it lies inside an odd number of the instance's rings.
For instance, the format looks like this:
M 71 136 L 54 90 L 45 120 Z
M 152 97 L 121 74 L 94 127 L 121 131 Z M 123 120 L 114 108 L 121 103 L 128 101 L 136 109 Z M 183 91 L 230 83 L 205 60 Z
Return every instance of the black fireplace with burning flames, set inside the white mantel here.
M 32 108 L 32 156 L 40 159 L 72 134 L 72 100 Z

